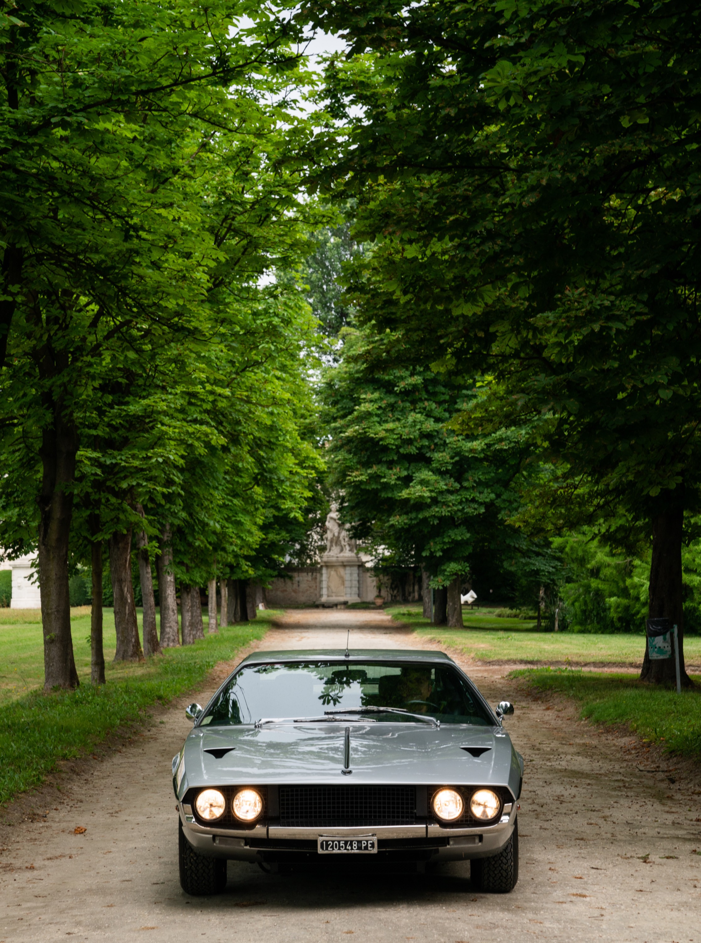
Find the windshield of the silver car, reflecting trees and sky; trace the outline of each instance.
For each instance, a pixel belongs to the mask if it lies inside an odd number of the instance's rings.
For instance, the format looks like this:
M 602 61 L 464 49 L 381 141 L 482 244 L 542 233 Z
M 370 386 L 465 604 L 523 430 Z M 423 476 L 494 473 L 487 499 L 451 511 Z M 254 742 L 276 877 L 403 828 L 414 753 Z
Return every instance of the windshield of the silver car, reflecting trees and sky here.
M 392 707 L 426 714 L 441 723 L 494 724 L 474 688 L 449 666 L 320 661 L 243 668 L 219 693 L 200 726 L 255 723 L 264 718 L 323 718 L 334 709 L 354 707 Z M 345 720 L 352 718 L 351 714 Z M 400 714 L 383 717 L 376 713 L 373 718 L 417 722 Z

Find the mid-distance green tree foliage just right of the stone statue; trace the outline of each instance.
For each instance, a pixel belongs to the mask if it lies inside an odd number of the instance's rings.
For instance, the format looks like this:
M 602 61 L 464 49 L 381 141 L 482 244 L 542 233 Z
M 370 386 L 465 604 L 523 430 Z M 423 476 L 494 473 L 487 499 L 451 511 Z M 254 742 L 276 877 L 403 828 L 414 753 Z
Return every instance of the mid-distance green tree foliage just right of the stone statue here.
M 546 546 L 512 524 L 531 476 L 528 428 L 481 432 L 475 407 L 485 385 L 417 366 L 407 352 L 378 369 L 395 345 L 391 334 L 346 332 L 340 365 L 326 371 L 327 455 L 342 515 L 379 565 L 420 566 L 435 587 L 476 583 L 482 598 L 496 589 L 535 604 L 552 564 Z M 466 416 L 475 417 L 469 432 Z

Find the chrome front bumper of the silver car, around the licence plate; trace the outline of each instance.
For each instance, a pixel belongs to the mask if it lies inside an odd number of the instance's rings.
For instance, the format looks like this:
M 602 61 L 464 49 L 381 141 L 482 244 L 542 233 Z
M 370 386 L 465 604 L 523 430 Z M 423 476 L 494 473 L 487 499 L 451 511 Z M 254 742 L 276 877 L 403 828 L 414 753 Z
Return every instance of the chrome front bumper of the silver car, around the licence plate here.
M 390 825 L 362 828 L 283 828 L 277 825 L 257 825 L 248 829 L 207 828 L 192 816 L 191 807 L 178 802 L 178 814 L 183 833 L 192 848 L 207 857 L 227 858 L 233 861 L 256 863 L 283 863 L 319 860 L 317 839 L 320 836 L 353 838 L 376 835 L 377 861 L 438 862 L 488 858 L 507 844 L 518 805 L 514 802 L 509 816 L 503 816 L 495 825 L 482 828 L 451 828 L 435 824 Z M 334 859 L 324 855 L 322 860 Z M 340 854 L 339 859 L 356 855 Z M 370 856 L 363 856 L 367 861 Z

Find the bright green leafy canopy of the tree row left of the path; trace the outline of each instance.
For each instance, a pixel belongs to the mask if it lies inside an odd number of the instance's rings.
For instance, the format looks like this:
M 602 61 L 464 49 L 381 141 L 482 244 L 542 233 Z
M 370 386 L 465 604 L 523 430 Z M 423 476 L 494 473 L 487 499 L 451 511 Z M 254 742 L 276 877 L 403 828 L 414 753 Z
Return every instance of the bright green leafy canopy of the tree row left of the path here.
M 284 10 L 15 13 L 0 48 L 0 530 L 38 548 L 46 687 L 65 687 L 71 548 L 124 535 L 128 554 L 133 526 L 167 525 L 175 575 L 202 583 L 215 559 L 262 575 L 266 522 L 309 500 L 312 325 L 265 280 L 307 252 L 314 206 L 289 158 L 309 138 L 309 77 Z

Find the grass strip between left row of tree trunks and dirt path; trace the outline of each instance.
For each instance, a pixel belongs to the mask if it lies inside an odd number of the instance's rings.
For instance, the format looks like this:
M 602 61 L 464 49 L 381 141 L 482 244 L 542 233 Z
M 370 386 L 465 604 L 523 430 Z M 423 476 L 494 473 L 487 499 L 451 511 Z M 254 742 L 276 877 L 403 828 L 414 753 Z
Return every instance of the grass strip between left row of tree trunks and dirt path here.
M 148 707 L 201 684 L 218 662 L 263 637 L 276 615 L 266 610 L 254 622 L 220 629 L 194 645 L 168 649 L 138 664 L 109 665 L 108 684 L 102 687 L 82 682 L 75 691 L 44 695 L 33 690 L 4 703 L 0 804 L 40 786 L 59 760 L 89 753 L 115 731 L 142 720 Z

